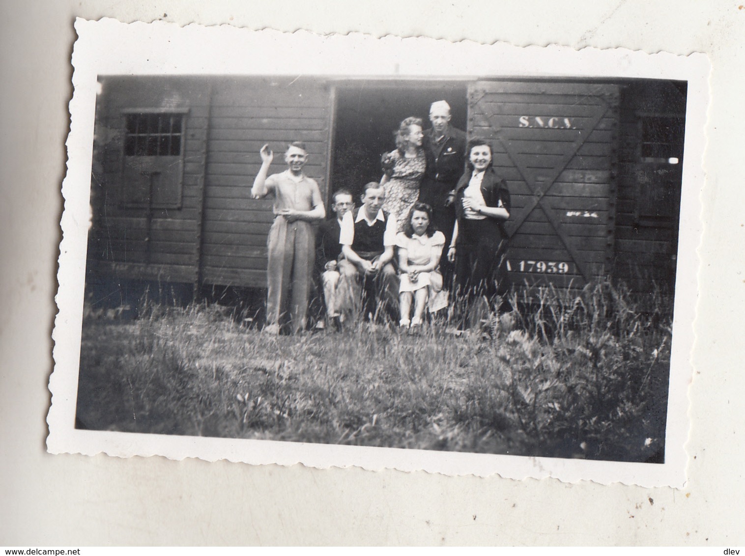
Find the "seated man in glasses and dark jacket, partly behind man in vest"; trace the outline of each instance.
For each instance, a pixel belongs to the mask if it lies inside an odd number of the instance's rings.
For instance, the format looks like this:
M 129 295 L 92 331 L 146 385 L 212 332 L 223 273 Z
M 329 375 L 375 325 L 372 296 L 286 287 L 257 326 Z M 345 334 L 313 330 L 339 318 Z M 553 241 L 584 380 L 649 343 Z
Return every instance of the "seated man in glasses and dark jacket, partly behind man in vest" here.
M 339 234 L 341 221 L 344 214 L 355 208 L 352 194 L 346 189 L 335 191 L 332 195 L 331 209 L 335 216 L 324 220 L 318 227 L 316 235 L 316 265 L 317 276 L 323 290 L 323 304 L 326 308 L 326 321 L 337 330 L 340 328 L 339 302 L 337 301 L 337 288 L 339 285 L 338 262 L 341 258 L 341 245 Z M 318 321 L 317 328 L 325 327 L 323 320 Z

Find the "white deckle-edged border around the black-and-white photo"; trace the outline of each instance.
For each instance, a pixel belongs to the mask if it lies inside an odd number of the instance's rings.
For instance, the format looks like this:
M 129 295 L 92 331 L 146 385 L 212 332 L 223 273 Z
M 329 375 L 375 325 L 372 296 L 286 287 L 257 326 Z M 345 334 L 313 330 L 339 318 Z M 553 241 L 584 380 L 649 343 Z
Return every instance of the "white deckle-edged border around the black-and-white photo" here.
M 446 475 L 510 479 L 554 477 L 564 482 L 591 480 L 644 487 L 683 488 L 688 456 L 688 386 L 693 376 L 690 351 L 697 300 L 700 243 L 700 189 L 704 176 L 706 106 L 710 66 L 703 54 L 688 57 L 645 54 L 624 49 L 559 46 L 525 48 L 498 43 L 452 43 L 426 38 L 375 39 L 359 33 L 320 36 L 298 31 L 249 31 L 165 22 L 123 24 L 77 19 L 73 51 L 74 93 L 68 173 L 63 182 L 59 313 L 53 333 L 54 373 L 48 413 L 48 451 L 110 456 L 160 455 L 249 464 L 302 463 L 311 467 L 395 468 Z M 297 52 L 303 56 L 298 57 Z M 227 53 L 227 54 L 226 54 Z M 244 53 L 244 55 L 241 55 Z M 259 53 L 255 55 L 253 53 Z M 270 55 L 267 55 L 270 53 Z M 278 63 L 279 61 L 279 63 Z M 530 68 L 530 71 L 526 71 Z M 665 464 L 532 458 L 472 453 L 330 446 L 276 441 L 233 440 L 174 435 L 77 430 L 75 400 L 89 223 L 89 185 L 98 75 L 107 74 L 270 74 L 446 77 L 597 77 L 688 81 L 685 156 L 677 259 L 673 348 L 668 397 Z

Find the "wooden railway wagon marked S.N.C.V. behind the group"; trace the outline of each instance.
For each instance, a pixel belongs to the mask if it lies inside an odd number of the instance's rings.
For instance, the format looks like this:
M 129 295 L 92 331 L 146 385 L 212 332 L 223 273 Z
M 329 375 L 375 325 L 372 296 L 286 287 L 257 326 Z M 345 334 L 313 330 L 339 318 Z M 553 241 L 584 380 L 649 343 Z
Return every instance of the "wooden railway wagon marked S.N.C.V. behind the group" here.
M 409 115 L 446 99 L 510 187 L 514 284 L 674 286 L 686 85 L 662 80 L 101 77 L 90 282 L 263 288 L 269 143 L 305 141 L 329 192 L 379 179 Z M 276 156 L 273 171 L 284 170 Z

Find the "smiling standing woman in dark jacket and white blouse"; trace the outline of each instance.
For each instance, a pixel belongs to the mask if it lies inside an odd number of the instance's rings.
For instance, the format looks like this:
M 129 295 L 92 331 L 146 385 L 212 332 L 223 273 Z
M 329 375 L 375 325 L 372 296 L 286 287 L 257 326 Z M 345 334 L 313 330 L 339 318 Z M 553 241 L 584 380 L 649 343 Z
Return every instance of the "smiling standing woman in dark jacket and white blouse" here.
M 473 139 L 466 147 L 469 170 L 455 187 L 456 221 L 448 249 L 455 263 L 456 293 L 466 314 L 476 298 L 495 301 L 507 292 L 507 231 L 510 191 L 492 169 L 492 147 Z M 498 309 L 498 307 L 495 307 Z

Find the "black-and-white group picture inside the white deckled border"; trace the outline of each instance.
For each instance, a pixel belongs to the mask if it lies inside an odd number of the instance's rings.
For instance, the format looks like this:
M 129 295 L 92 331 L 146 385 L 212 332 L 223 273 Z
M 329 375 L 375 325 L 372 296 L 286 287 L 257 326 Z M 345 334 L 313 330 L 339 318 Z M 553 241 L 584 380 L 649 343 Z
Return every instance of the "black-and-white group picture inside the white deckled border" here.
M 271 46 L 88 83 L 75 431 L 670 463 L 689 80 Z

